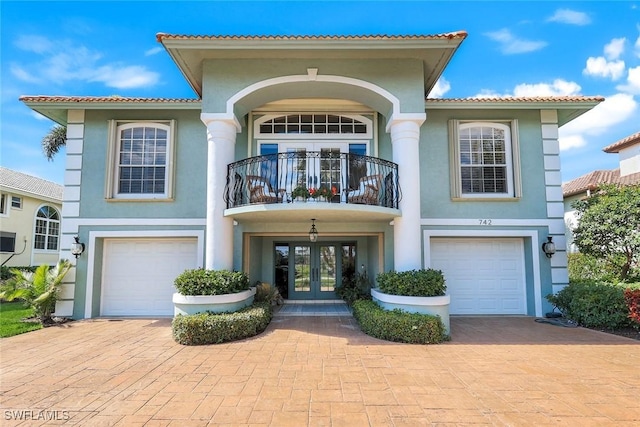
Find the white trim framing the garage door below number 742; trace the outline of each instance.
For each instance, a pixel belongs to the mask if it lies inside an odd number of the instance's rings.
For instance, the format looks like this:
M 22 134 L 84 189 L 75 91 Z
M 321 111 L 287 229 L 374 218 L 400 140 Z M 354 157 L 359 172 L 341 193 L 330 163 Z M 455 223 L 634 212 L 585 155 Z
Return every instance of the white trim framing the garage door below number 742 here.
M 533 297 L 535 313 L 542 317 L 542 288 L 540 283 L 540 245 L 538 232 L 532 230 L 424 230 L 424 265 L 431 266 L 432 237 L 528 237 L 531 239 L 533 263 Z M 524 244 L 524 242 L 523 242 Z

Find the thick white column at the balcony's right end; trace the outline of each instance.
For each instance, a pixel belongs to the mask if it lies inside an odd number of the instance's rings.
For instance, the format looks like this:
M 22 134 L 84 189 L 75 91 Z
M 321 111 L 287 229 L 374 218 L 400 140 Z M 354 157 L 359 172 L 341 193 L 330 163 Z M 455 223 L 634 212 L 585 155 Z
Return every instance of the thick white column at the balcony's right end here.
M 413 117 L 392 120 L 388 126 L 393 161 L 398 164 L 402 216 L 393 220 L 393 264 L 396 271 L 422 268 L 420 232 L 420 126 L 425 120 Z

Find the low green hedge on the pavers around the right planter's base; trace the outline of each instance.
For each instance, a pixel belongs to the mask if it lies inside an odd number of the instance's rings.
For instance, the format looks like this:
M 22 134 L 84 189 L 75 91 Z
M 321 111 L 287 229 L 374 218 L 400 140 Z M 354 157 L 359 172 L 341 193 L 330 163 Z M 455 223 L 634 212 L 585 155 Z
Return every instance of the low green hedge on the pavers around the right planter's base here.
M 365 334 L 387 341 L 437 344 L 448 338 L 439 316 L 385 310 L 373 301 L 356 301 L 353 317 Z

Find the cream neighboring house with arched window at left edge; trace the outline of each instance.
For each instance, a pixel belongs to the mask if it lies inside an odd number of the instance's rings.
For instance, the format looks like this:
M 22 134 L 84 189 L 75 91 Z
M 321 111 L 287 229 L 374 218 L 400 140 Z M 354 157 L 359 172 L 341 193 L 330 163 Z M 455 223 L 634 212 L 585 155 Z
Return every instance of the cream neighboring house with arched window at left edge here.
M 54 265 L 60 257 L 64 187 L 0 167 L 0 262 Z

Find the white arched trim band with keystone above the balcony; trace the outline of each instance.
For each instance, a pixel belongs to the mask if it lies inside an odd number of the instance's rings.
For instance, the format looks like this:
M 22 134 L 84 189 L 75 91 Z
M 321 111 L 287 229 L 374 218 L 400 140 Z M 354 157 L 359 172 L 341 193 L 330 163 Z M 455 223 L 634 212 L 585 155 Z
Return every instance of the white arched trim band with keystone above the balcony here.
M 231 118 L 231 117 L 235 118 L 235 114 L 234 114 L 235 104 L 240 99 L 250 95 L 253 92 L 267 88 L 269 86 L 276 86 L 276 85 L 286 84 L 286 83 L 301 83 L 301 82 L 309 82 L 309 81 L 325 82 L 325 83 L 341 83 L 345 85 L 357 86 L 363 89 L 367 89 L 387 99 L 393 105 L 393 109 L 391 111 L 392 117 L 395 117 L 396 115 L 401 114 L 400 100 L 388 90 L 383 89 L 382 87 L 375 85 L 373 83 L 367 82 L 365 80 L 354 79 L 352 77 L 317 74 L 317 70 L 316 70 L 315 74 L 308 73 L 308 74 L 296 74 L 296 75 L 290 75 L 290 76 L 274 77 L 271 79 L 261 80 L 252 85 L 247 86 L 246 88 L 237 92 L 235 95 L 233 95 L 231 98 L 227 100 L 227 112 L 225 116 L 227 118 Z

